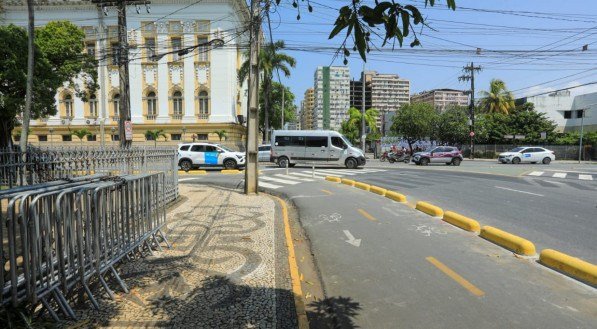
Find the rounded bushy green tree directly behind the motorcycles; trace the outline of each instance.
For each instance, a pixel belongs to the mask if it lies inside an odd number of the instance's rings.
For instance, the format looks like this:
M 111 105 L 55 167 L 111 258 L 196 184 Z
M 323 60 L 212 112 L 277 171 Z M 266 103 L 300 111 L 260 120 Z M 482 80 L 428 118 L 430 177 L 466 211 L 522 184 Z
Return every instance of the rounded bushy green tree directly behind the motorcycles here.
M 431 104 L 411 103 L 396 111 L 390 129 L 396 135 L 406 139 L 412 153 L 414 142 L 433 135 L 437 120 L 437 111 Z

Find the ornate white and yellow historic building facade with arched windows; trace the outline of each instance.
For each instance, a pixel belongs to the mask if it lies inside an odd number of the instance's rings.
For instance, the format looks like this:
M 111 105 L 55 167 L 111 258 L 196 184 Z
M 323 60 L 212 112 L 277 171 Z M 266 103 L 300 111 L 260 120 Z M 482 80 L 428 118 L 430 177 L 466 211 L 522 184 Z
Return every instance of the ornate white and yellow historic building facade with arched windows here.
M 7 0 L 4 9 L 3 24 L 26 26 L 26 1 Z M 86 52 L 99 62 L 100 89 L 83 101 L 65 84 L 56 94 L 57 114 L 32 121 L 30 141 L 60 144 L 71 140 L 71 131 L 87 128 L 93 134 L 87 141 L 99 143 L 103 124 L 106 141 L 114 143 L 120 138 L 121 101 L 116 9 L 102 10 L 90 1 L 47 0 L 35 11 L 38 25 L 68 19 L 83 29 Z M 230 140 L 244 138 L 246 83 L 237 82 L 237 70 L 244 61 L 239 44 L 248 19 L 240 0 L 152 0 L 151 13 L 129 6 L 133 142 L 145 141 L 145 132 L 155 129 L 163 129 L 171 141 L 216 141 L 214 131 L 222 129 Z M 215 39 L 223 46 L 205 46 Z M 204 46 L 188 54 L 171 53 L 195 45 Z

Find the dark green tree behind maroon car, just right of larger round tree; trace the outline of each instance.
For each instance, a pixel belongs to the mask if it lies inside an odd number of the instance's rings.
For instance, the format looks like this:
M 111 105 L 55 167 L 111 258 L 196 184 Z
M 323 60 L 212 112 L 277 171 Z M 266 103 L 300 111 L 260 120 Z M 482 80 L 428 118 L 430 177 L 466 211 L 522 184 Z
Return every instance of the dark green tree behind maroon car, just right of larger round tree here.
M 435 137 L 438 141 L 451 145 L 466 142 L 469 133 L 468 118 L 467 108 L 448 107 L 438 117 Z

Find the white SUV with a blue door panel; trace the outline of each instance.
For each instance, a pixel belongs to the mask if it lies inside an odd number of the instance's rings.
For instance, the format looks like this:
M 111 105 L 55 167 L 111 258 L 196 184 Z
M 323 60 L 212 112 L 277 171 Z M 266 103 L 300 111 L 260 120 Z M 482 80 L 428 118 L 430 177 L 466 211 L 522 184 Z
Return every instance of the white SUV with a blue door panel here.
M 184 171 L 194 167 L 224 166 L 226 169 L 245 165 L 245 153 L 233 151 L 223 145 L 186 143 L 178 145 L 178 166 Z

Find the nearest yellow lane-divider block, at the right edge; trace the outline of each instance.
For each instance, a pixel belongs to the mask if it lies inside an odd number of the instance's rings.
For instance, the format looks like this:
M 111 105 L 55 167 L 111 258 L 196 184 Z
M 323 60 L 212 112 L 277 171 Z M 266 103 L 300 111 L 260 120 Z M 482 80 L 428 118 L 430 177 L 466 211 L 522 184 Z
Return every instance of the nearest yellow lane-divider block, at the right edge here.
M 597 287 L 597 265 L 553 249 L 544 249 L 539 262 L 551 269 Z

